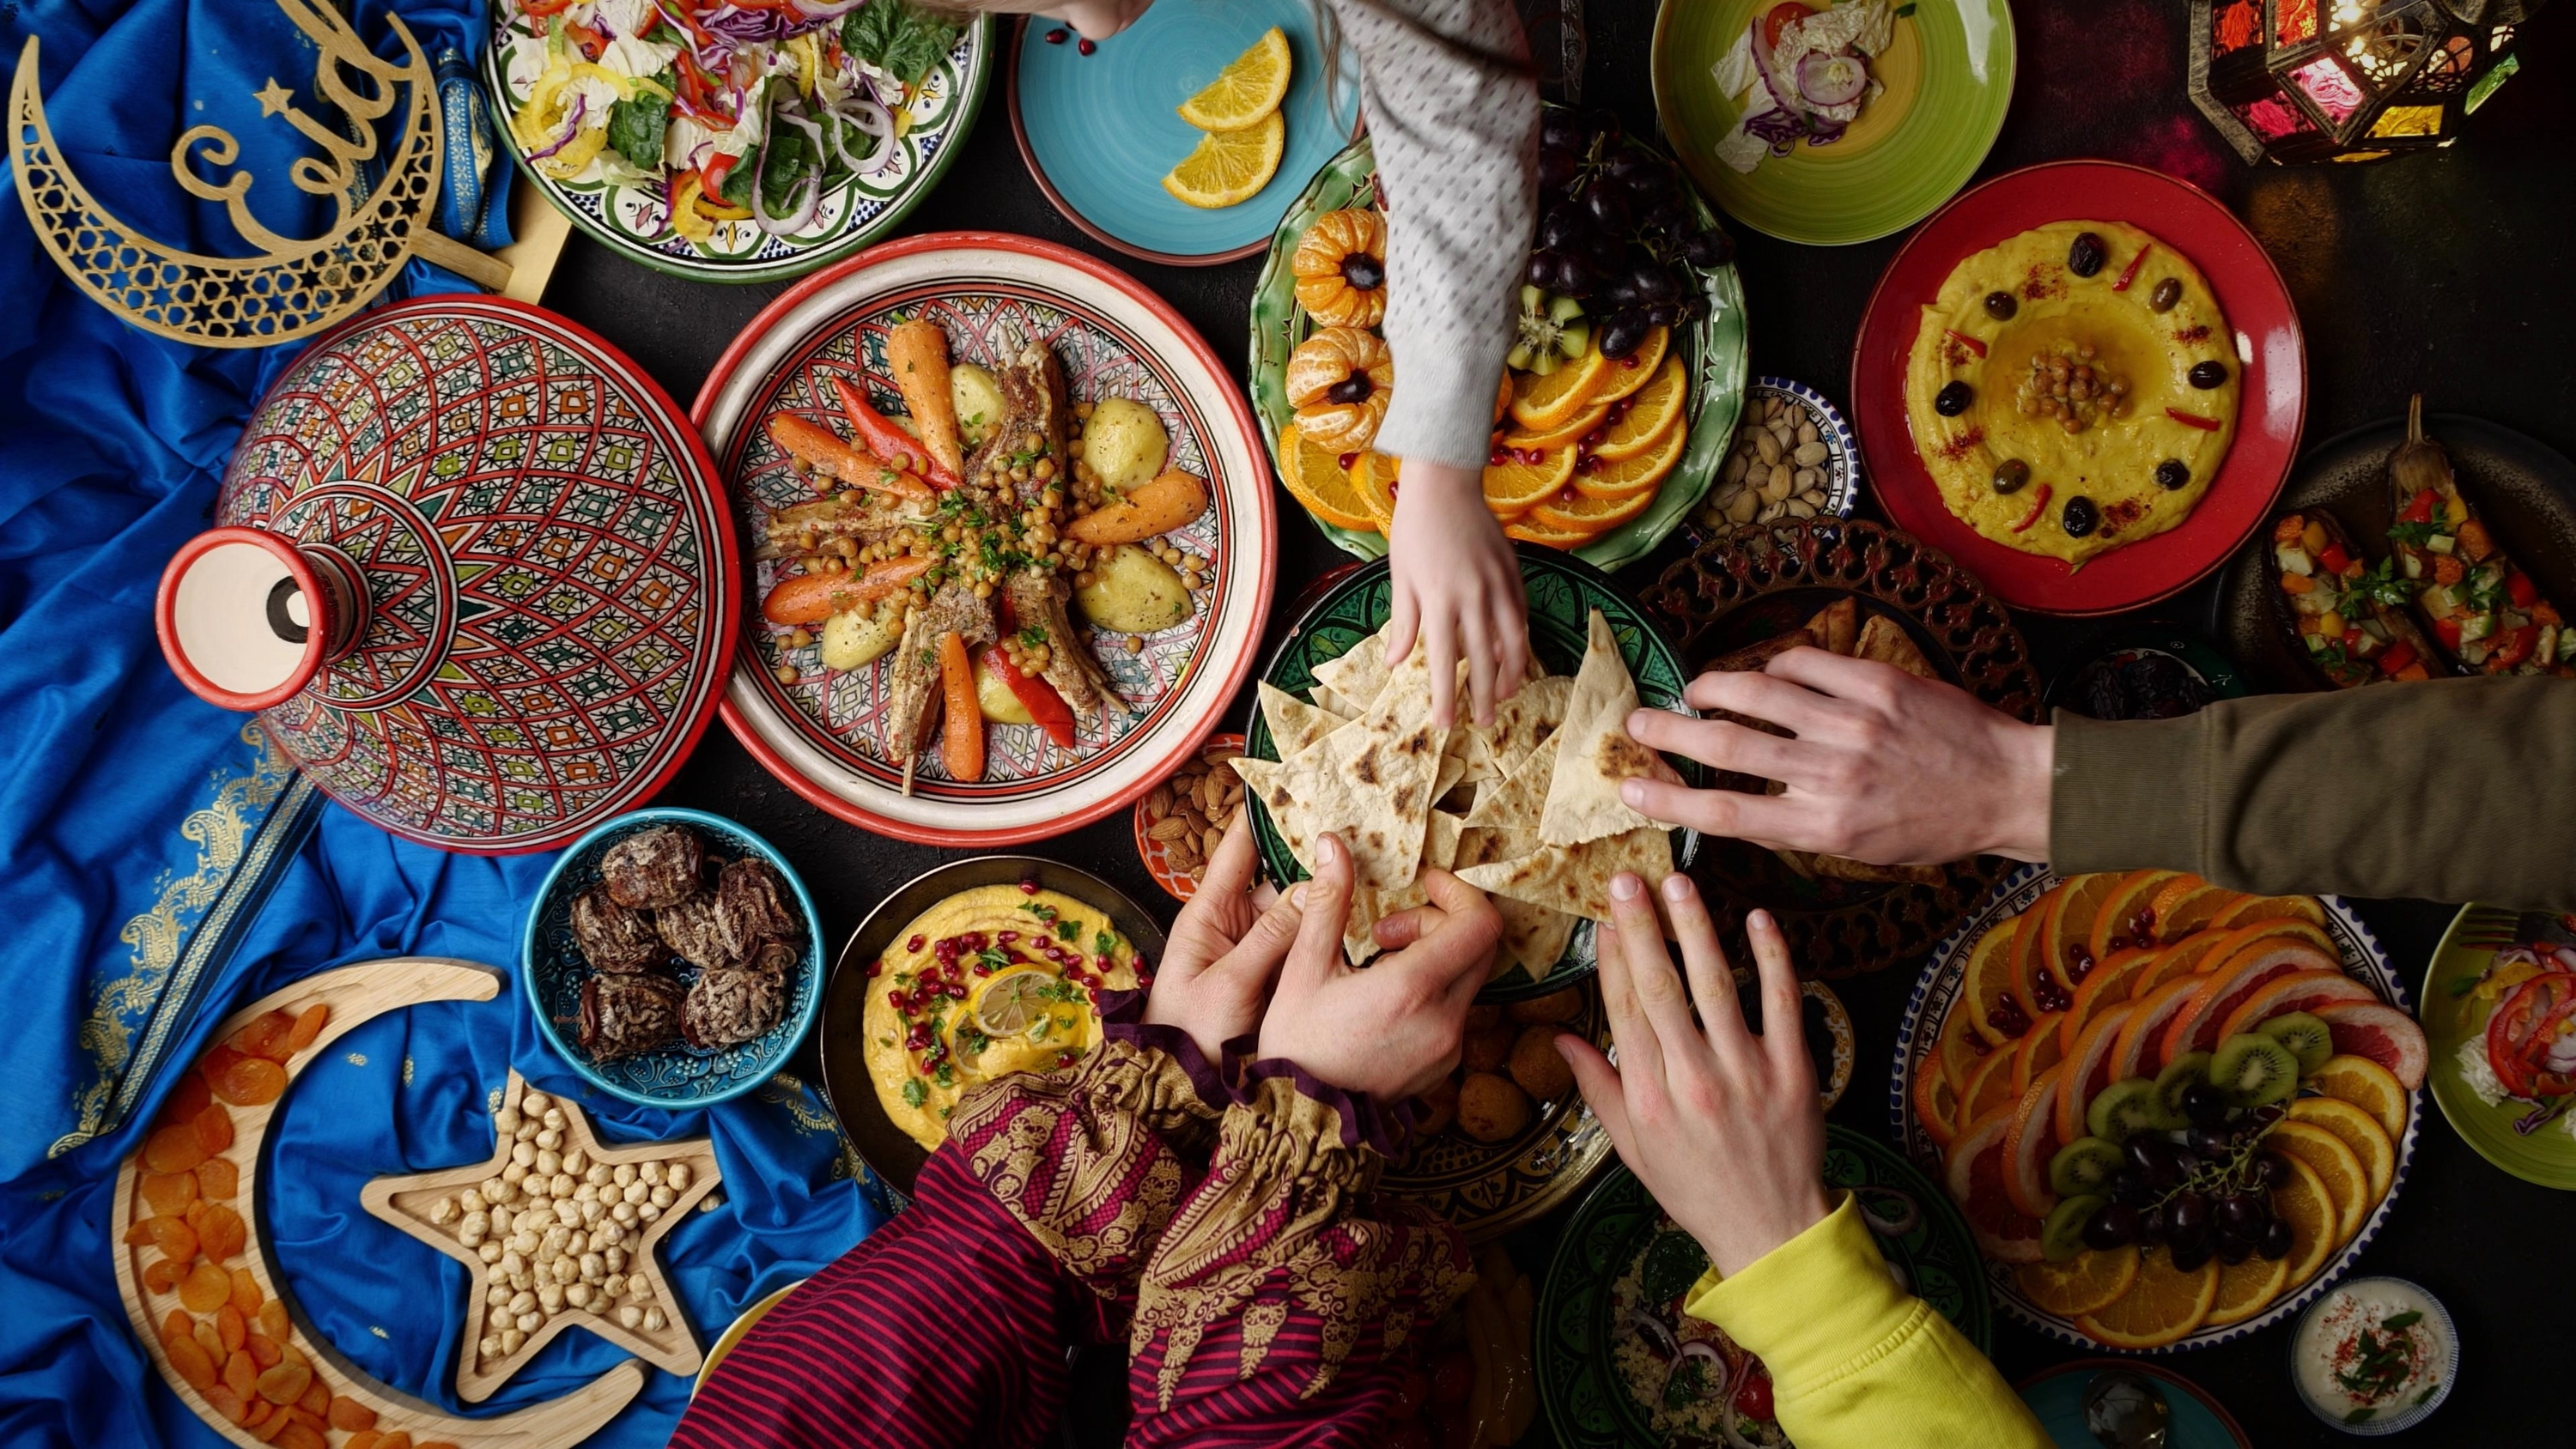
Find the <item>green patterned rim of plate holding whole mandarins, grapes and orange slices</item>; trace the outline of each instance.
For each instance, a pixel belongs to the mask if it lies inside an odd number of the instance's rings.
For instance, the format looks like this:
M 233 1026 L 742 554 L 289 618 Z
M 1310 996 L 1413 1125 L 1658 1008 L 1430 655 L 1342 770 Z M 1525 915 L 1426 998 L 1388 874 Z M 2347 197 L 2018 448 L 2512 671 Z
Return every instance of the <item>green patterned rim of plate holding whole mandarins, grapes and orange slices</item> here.
M 1716 226 L 1716 216 L 1698 196 L 1687 196 L 1687 201 L 1698 226 Z M 1260 414 L 1262 438 L 1270 440 L 1273 468 L 1278 466 L 1280 427 L 1296 420 L 1296 409 L 1288 407 L 1288 353 L 1314 332 L 1306 309 L 1296 304 L 1296 275 L 1288 270 L 1288 260 L 1316 216 L 1345 206 L 1378 206 L 1378 162 L 1368 149 L 1368 136 L 1332 157 L 1306 185 L 1306 196 L 1288 208 L 1280 229 L 1270 237 L 1262 281 L 1252 291 L 1252 412 Z M 1690 445 L 1643 515 L 1574 551 L 1574 558 L 1595 569 L 1625 569 L 1651 553 L 1690 517 L 1690 510 L 1708 494 L 1708 484 L 1718 479 L 1718 466 L 1726 463 L 1736 412 L 1744 407 L 1747 376 L 1744 286 L 1736 281 L 1736 268 L 1703 270 L 1700 296 L 1708 301 L 1708 311 L 1682 332 L 1682 360 L 1690 365 Z M 1404 378 L 1396 378 L 1396 386 L 1401 389 Z M 1383 533 L 1337 528 L 1321 517 L 1314 525 L 1347 553 L 1386 556 Z

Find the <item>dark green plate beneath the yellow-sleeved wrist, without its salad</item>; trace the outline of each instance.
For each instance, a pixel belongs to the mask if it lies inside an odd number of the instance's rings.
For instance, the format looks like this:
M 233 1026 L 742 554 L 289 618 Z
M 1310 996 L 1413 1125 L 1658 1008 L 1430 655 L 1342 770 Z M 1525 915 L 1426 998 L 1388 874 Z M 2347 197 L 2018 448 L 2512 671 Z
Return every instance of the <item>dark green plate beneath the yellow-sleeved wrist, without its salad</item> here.
M 1929 1179 L 1896 1150 L 1850 1127 L 1824 1130 L 1824 1181 L 1860 1194 L 1862 1207 L 1904 1225 L 1904 1233 L 1878 1233 L 1878 1253 L 1896 1269 L 1909 1292 L 1984 1351 L 1994 1336 L 1994 1305 L 1976 1261 L 1968 1223 Z M 1662 1313 L 1672 1297 L 1662 1289 L 1698 1282 L 1708 1266 L 1700 1246 L 1664 1217 L 1646 1184 L 1625 1166 L 1607 1179 L 1566 1223 L 1566 1235 L 1538 1289 L 1533 1359 L 1538 1364 L 1538 1403 L 1548 1428 L 1566 1449 L 1664 1449 L 1654 1431 L 1654 1410 L 1638 1400 L 1620 1372 L 1620 1318 L 1628 1307 Z M 1643 1302 L 1646 1284 L 1654 1302 Z M 1669 1323 L 1667 1323 L 1669 1325 Z M 1656 1364 L 1659 1367 L 1659 1364 Z M 1708 1434 L 1705 1439 L 1716 1439 Z

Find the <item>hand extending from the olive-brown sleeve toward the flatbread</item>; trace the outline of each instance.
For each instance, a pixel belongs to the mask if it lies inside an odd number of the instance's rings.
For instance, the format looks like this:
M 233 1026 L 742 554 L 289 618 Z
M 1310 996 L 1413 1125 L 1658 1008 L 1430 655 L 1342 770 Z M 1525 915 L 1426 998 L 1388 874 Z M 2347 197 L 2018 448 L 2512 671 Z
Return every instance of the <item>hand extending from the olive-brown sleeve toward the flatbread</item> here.
M 1710 672 L 1682 697 L 1790 731 L 1636 710 L 1628 734 L 1713 770 L 1785 785 L 1777 795 L 1625 780 L 1631 808 L 1765 847 L 1870 865 L 1971 854 L 2048 860 L 2053 731 L 1937 679 L 1824 649 L 1790 649 L 1759 672 Z

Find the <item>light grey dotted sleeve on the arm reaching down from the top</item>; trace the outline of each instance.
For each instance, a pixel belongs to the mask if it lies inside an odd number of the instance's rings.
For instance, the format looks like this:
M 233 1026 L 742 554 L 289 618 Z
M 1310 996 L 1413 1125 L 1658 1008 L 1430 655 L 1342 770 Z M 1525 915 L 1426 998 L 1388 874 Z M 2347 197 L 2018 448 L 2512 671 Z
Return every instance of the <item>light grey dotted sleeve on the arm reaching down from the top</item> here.
M 1510 0 L 1329 0 L 1360 59 L 1386 193 L 1378 450 L 1463 468 L 1492 450 L 1515 283 L 1538 208 L 1538 80 Z

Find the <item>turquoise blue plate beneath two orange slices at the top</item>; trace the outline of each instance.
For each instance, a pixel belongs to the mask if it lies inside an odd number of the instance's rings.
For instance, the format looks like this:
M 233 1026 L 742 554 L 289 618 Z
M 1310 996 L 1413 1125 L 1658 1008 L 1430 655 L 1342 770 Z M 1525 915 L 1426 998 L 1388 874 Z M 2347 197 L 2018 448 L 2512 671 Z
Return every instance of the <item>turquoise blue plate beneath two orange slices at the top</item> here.
M 1280 103 L 1288 149 L 1278 175 L 1239 206 L 1206 211 L 1175 201 L 1162 178 L 1200 136 L 1177 106 L 1270 26 L 1288 33 L 1293 51 Z M 1064 31 L 1064 41 L 1048 44 L 1051 31 Z M 1188 268 L 1260 252 L 1306 180 L 1360 124 L 1358 62 L 1342 51 L 1327 103 L 1324 46 L 1306 0 L 1157 0 L 1092 54 L 1077 41 L 1069 26 L 1043 15 L 1020 23 L 1010 57 L 1010 134 L 1056 211 L 1131 257 Z

